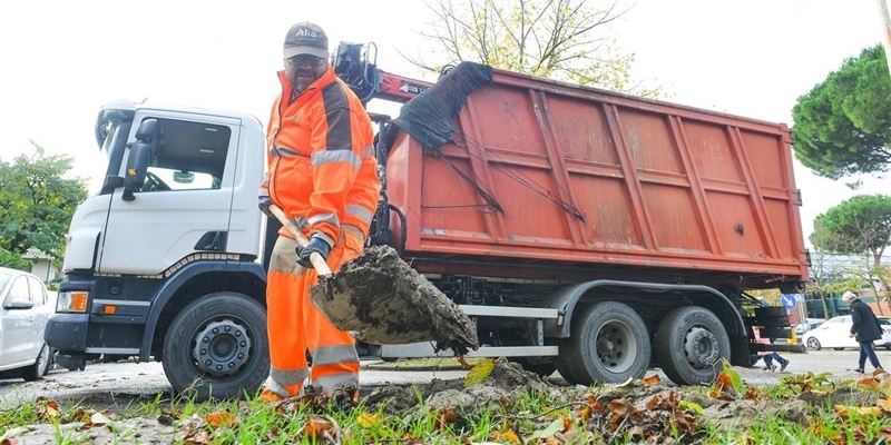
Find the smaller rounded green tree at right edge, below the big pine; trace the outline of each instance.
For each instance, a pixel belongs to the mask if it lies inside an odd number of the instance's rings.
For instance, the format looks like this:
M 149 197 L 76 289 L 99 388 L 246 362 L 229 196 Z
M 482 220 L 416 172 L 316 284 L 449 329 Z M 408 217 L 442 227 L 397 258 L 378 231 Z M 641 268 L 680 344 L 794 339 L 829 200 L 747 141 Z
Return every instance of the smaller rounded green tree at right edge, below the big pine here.
M 811 243 L 819 249 L 836 254 L 872 255 L 879 266 L 891 240 L 891 197 L 860 195 L 817 215 Z

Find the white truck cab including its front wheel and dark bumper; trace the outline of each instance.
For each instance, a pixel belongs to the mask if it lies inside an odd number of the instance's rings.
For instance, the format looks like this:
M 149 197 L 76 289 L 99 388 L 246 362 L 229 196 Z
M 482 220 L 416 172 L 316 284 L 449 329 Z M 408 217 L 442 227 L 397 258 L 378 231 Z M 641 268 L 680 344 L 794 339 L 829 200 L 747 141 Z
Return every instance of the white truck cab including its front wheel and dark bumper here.
M 177 390 L 255 390 L 268 373 L 261 122 L 111 102 L 96 139 L 105 180 L 72 217 L 46 332 L 57 363 L 153 358 Z

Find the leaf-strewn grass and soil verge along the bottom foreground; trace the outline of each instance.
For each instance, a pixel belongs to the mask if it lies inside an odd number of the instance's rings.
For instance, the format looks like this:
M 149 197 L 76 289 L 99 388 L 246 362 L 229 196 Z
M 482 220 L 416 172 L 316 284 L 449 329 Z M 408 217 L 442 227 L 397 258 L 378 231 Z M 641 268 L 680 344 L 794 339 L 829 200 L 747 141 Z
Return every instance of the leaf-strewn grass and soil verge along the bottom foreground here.
M 777 387 L 786 395 L 777 396 L 773 390 L 771 396 L 765 388 L 745 384 L 728 366 L 708 387 L 678 387 L 652 375 L 621 385 L 579 388 L 552 385 L 506 359 L 482 363 L 466 380 L 433 379 L 427 385 L 376 388 L 363 397 L 363 411 L 349 427 L 337 425 L 332 414 L 356 407 L 353 388 L 283 400 L 275 406 L 274 415 L 285 422 L 302 423 L 298 437 L 286 439 L 326 444 L 350 443 L 356 438 L 355 428 L 385 428 L 394 418 L 402 425 L 423 421 L 437 434 L 454 434 L 450 432 L 470 431 L 474 421 L 486 416 L 493 419 L 486 439 L 498 443 L 698 443 L 706 438 L 709 427 L 748 431 L 757 428 L 765 418 L 780 418 L 801 425 L 825 443 L 843 444 L 845 435 L 824 428 L 821 422 L 826 421 L 810 415 L 812 408 L 833 406 L 839 424 L 853 425 L 850 432 L 853 437 L 865 438 L 866 424 L 858 422 L 891 418 L 891 376 L 887 374 L 838 383 L 826 374 L 804 373 L 780 380 Z M 539 406 L 530 406 L 529 394 L 533 394 Z M 84 407 L 62 411 L 57 402 L 42 397 L 38 398 L 36 411 L 47 424 L 86 431 L 94 438 L 114 441 L 135 431 L 133 434 L 141 443 L 173 441 L 199 445 L 216 443 L 217 431 L 237 432 L 249 415 L 249 409 L 203 416 L 163 412 L 155 421 L 118 421 L 114 413 L 105 411 Z M 29 438 L 23 443 L 39 443 L 35 437 L 52 441 L 51 425 L 41 427 L 9 429 L 0 437 L 0 445 L 16 445 L 23 437 Z M 41 429 L 43 436 L 37 433 Z M 267 439 L 280 439 L 284 433 L 272 429 L 264 434 Z M 891 427 L 882 427 L 881 434 L 891 441 Z M 743 441 L 745 437 L 744 434 Z M 454 439 L 466 442 L 467 437 Z M 405 432 L 400 441 L 420 444 L 425 437 Z

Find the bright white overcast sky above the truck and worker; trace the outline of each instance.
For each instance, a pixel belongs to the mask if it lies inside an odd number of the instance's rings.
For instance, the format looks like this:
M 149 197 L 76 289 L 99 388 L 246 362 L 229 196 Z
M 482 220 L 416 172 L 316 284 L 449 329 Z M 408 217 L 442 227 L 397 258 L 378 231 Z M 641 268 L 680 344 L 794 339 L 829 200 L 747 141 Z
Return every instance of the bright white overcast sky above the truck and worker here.
M 14 4 L 14 6 L 13 6 Z M 381 69 L 415 77 L 412 52 L 427 21 L 421 1 L 28 1 L 0 7 L 0 158 L 76 158 L 90 176 L 101 103 L 148 100 L 244 111 L 267 119 L 290 24 L 310 20 L 337 41 L 374 41 Z M 797 97 L 843 60 L 882 39 L 875 0 L 638 0 L 610 27 L 637 56 L 637 79 L 670 101 L 793 125 Z M 813 218 L 856 194 L 891 191 L 873 178 L 859 191 L 796 166 L 805 237 Z

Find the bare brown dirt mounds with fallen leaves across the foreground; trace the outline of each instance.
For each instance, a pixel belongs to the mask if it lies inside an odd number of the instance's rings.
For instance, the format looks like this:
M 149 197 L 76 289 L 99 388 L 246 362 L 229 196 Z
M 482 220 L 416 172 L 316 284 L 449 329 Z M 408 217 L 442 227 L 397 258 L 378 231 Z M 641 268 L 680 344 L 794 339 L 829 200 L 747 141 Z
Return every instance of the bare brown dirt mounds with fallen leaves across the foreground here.
M 735 380 L 733 372 L 718 375 L 708 387 L 678 387 L 657 376 L 629 380 L 621 385 L 595 388 L 556 385 L 537 374 L 523 370 L 507 359 L 486 359 L 468 372 L 464 379 L 433 379 L 422 385 L 386 385 L 362 396 L 362 406 L 369 413 L 382 412 L 398 416 L 407 425 L 430 418 L 456 427 L 471 419 L 495 415 L 500 431 L 492 432 L 496 443 L 562 444 L 618 442 L 637 443 L 699 443 L 713 425 L 717 431 L 750 428 L 765 418 L 777 418 L 807 427 L 810 409 L 815 406 L 875 407 L 882 392 L 859 390 L 862 385 L 889 387 L 888 374 L 864 376 L 858 386 L 836 387 L 834 390 L 815 390 L 821 378 L 810 374 L 794 376 L 784 383 L 795 396 L 781 402 L 767 397 L 766 392 Z M 824 378 L 824 377 L 823 377 Z M 532 394 L 545 408 L 538 414 L 518 411 L 517 403 Z M 422 402 L 421 402 L 422 400 Z M 324 432 L 320 443 L 350 443 L 349 431 L 331 423 L 331 406 L 351 409 L 351 392 L 333 395 L 305 396 L 286 399 L 276 407 L 282 415 L 307 405 L 317 414 L 311 422 Z M 51 400 L 40 409 L 59 409 Z M 244 405 L 246 409 L 246 404 Z M 556 415 L 557 413 L 571 413 Z M 878 408 L 875 408 L 878 409 Z M 492 414 L 493 413 L 493 414 Z M 60 413 L 55 413 L 57 416 Z M 209 425 L 219 419 L 210 416 L 176 418 L 161 415 L 156 419 L 117 419 L 108 411 L 77 408 L 60 418 L 61 434 L 81 437 L 86 444 L 141 443 L 206 444 L 210 441 Z M 57 417 L 59 418 L 59 417 Z M 511 426 L 512 425 L 512 426 Z M 307 424 L 306 428 L 310 428 Z M 59 432 L 49 423 L 14 428 L 0 437 L 2 445 L 56 443 Z M 124 436 L 126 439 L 121 439 Z M 458 441 L 458 438 L 456 438 Z M 423 443 L 408 441 L 405 443 Z

